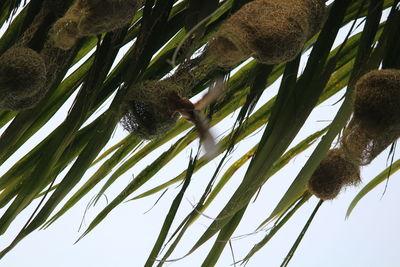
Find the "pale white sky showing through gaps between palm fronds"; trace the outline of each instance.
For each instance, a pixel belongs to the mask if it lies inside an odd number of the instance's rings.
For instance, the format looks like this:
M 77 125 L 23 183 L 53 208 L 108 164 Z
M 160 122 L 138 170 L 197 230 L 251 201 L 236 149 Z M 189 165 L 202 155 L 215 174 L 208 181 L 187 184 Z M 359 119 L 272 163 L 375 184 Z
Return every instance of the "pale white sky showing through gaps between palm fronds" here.
M 263 99 L 270 98 L 274 93 L 276 93 L 276 86 L 268 89 Z M 294 144 L 307 137 L 310 133 L 325 127 L 339 108 L 340 103 L 333 105 L 339 99 L 340 95 L 329 99 L 315 110 L 299 136 L 296 137 Z M 71 103 L 72 99 L 63 106 L 62 110 L 57 113 L 49 125 L 35 136 L 32 142 L 22 147 L 13 158 L 1 166 L 0 174 L 3 174 L 17 158 L 30 150 L 34 144 L 46 136 L 49 133 L 49 129 L 53 129 L 58 125 L 65 118 Z M 228 118 L 221 125 L 215 127 L 215 129 L 213 129 L 214 133 L 222 134 L 227 127 L 231 125 L 230 122 L 232 122 L 232 120 L 234 120 L 234 117 Z M 115 143 L 119 141 L 125 137 L 126 134 L 127 133 L 119 127 L 111 142 Z M 232 156 L 230 163 L 247 152 L 260 138 L 261 134 L 262 132 L 243 141 Z M 169 144 L 163 146 L 162 149 L 168 147 Z M 290 162 L 264 186 L 257 201 L 248 208 L 245 219 L 238 227 L 234 236 L 253 233 L 255 228 L 268 217 L 293 178 L 304 165 L 307 157 L 311 155 L 313 148 L 314 146 L 296 157 L 295 160 Z M 397 150 L 395 159 L 398 159 L 399 155 L 399 149 Z M 151 186 L 160 184 L 161 181 L 171 179 L 176 174 L 180 173 L 183 166 L 187 165 L 189 153 L 189 150 L 182 152 L 181 155 L 169 165 L 168 169 L 163 169 L 148 185 L 144 186 L 140 192 L 151 188 Z M 400 175 L 398 173 L 391 176 L 384 195 L 385 183 L 368 194 L 359 203 L 350 218 L 345 220 L 345 212 L 355 194 L 363 185 L 385 168 L 387 154 L 387 151 L 384 152 L 371 165 L 362 169 L 362 185 L 357 188 L 349 188 L 336 200 L 324 203 L 300 244 L 290 266 L 399 266 L 398 239 L 400 237 L 400 229 L 398 225 L 400 217 L 397 212 L 397 205 L 400 203 L 400 196 L 397 192 L 400 188 Z M 131 171 L 125 174 L 124 177 L 120 178 L 120 180 L 112 186 L 110 191 L 107 192 L 108 198 L 112 199 L 115 194 L 119 193 L 126 183 L 132 179 L 132 175 L 138 174 L 138 172 L 149 164 L 157 155 L 157 152 L 153 153 L 147 162 L 141 162 L 138 166 L 135 166 Z M 176 225 L 180 223 L 181 219 L 191 211 L 191 204 L 199 200 L 217 164 L 218 159 L 214 160 L 194 176 L 192 184 L 185 194 L 181 210 L 178 213 L 177 219 L 174 221 L 175 224 L 172 229 L 174 229 Z M 96 170 L 96 167 L 90 170 L 89 175 Z M 246 167 L 247 165 L 239 170 L 232 178 L 230 184 L 226 186 L 215 203 L 207 210 L 207 216 L 215 217 L 218 214 L 240 183 Z M 86 175 L 85 177 L 88 178 L 89 176 Z M 162 198 L 162 201 L 146 214 L 144 213 L 154 204 L 159 195 L 120 205 L 92 233 L 76 245 L 73 245 L 80 235 L 77 231 L 86 205 L 90 198 L 97 193 L 98 189 L 99 187 L 96 187 L 96 189 L 74 209 L 68 212 L 49 229 L 45 231 L 36 231 L 23 240 L 0 261 L 0 266 L 142 266 L 158 236 L 170 204 L 180 188 L 172 187 Z M 317 199 L 312 198 L 304 205 L 270 243 L 255 254 L 248 266 L 280 266 L 316 203 Z M 105 204 L 106 202 L 103 199 L 100 201 L 98 207 L 89 210 L 85 220 L 87 222 L 86 226 Z M 12 238 L 15 237 L 18 230 L 32 212 L 32 208 L 27 209 L 22 216 L 16 220 L 10 231 L 0 238 L 0 249 L 8 245 Z M 3 211 L 0 211 L 0 213 L 2 212 Z M 187 232 L 183 243 L 177 249 L 176 253 L 173 254 L 173 258 L 183 256 L 210 223 L 210 219 L 205 216 L 200 218 L 200 220 L 192 226 L 190 231 Z M 249 249 L 251 249 L 257 241 L 262 239 L 264 235 L 265 233 L 261 232 L 247 235 L 244 238 L 234 239 L 232 245 L 236 260 L 243 258 Z M 187 258 L 166 264 L 166 266 L 200 266 L 212 244 L 213 242 L 208 242 Z M 217 266 L 230 266 L 232 263 L 232 255 L 229 248 L 227 248 Z

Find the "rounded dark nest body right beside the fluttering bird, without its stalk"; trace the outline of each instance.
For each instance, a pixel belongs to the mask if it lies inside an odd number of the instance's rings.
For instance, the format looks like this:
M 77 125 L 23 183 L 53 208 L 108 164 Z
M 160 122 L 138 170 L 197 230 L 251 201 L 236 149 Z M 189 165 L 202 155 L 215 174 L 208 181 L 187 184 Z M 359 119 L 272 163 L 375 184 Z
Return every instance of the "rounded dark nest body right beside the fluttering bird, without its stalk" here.
M 128 93 L 122 126 L 143 139 L 154 139 L 175 125 L 179 114 L 171 97 L 186 96 L 187 90 L 173 80 L 145 81 Z

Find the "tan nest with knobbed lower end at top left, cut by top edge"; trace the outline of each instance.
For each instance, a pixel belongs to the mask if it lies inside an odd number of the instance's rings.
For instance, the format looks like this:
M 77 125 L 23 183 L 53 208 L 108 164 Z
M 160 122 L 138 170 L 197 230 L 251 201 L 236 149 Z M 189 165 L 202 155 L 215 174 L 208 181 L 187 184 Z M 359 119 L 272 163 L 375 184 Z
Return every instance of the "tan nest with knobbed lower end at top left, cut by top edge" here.
M 52 39 L 61 49 L 70 49 L 80 37 L 109 32 L 128 24 L 138 0 L 78 0 L 52 28 Z

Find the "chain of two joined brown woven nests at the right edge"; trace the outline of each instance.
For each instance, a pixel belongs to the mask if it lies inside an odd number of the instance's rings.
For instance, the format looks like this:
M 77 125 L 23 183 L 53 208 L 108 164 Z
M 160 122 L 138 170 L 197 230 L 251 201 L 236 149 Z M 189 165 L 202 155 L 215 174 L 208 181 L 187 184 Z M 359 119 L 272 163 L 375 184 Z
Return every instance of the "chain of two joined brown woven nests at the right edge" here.
M 353 117 L 340 147 L 328 151 L 308 182 L 320 199 L 334 199 L 360 182 L 360 166 L 369 164 L 400 137 L 400 70 L 373 70 L 356 83 Z

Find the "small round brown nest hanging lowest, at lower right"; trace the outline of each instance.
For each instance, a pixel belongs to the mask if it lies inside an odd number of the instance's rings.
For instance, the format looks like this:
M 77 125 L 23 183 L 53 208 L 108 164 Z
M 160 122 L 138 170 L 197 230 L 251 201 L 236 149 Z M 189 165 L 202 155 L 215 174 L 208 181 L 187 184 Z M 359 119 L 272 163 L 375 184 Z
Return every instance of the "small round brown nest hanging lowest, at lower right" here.
M 310 180 L 308 191 L 323 200 L 334 199 L 345 185 L 360 182 L 360 169 L 339 149 L 329 150 Z

